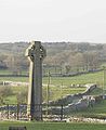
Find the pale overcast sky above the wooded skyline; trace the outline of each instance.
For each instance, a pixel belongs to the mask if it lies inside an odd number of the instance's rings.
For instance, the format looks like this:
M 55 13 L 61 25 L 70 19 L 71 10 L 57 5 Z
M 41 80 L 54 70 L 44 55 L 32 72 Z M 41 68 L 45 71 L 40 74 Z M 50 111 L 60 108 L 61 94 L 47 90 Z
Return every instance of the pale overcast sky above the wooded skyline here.
M 106 43 L 106 0 L 0 0 L 0 42 Z

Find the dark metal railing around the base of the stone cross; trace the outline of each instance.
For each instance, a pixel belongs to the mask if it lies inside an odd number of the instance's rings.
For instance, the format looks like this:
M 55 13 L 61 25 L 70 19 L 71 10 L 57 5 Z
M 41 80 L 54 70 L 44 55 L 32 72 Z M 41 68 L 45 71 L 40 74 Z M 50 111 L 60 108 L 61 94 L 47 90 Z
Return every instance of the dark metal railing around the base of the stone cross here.
M 64 120 L 66 116 L 63 114 L 63 105 L 36 105 L 36 107 L 42 107 L 42 120 Z M 28 105 L 26 104 L 8 104 L 0 106 L 0 120 L 30 120 L 30 115 L 28 115 Z M 55 112 L 55 108 L 58 112 Z M 54 113 L 55 112 L 55 113 Z

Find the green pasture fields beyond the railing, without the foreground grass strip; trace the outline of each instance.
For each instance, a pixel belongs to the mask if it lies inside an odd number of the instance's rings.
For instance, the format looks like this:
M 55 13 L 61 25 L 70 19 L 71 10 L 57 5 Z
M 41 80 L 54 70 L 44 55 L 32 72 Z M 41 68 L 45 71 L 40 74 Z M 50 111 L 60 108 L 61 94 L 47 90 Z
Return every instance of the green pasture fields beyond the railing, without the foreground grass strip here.
M 22 81 L 28 82 L 28 77 L 0 77 L 0 81 Z M 49 82 L 49 77 L 43 77 L 43 101 L 47 102 L 47 87 Z M 103 93 L 104 86 L 104 73 L 97 72 L 92 74 L 79 75 L 75 77 L 50 77 L 50 96 L 49 100 L 57 100 L 65 96 L 66 94 L 74 94 L 83 92 L 85 88 L 76 87 L 76 84 L 85 84 L 85 83 L 97 83 L 100 88 L 93 91 L 92 95 L 98 95 Z M 75 84 L 75 87 L 71 87 Z M 103 88 L 104 87 L 104 88 Z M 16 94 L 19 92 L 27 91 L 27 87 L 10 87 L 13 90 L 13 95 L 4 98 L 5 104 L 17 104 Z M 84 117 L 106 117 L 106 101 L 96 104 L 93 107 L 90 107 L 84 110 L 77 113 L 70 113 L 70 116 L 84 116 Z

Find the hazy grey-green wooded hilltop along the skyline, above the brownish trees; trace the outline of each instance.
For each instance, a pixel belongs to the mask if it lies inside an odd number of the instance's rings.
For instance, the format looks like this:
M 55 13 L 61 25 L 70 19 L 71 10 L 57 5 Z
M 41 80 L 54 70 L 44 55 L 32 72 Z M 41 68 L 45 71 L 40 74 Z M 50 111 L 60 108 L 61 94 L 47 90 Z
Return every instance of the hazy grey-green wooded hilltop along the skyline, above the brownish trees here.
M 0 53 L 24 53 L 28 47 L 28 42 L 14 42 L 14 43 L 0 43 Z M 42 46 L 47 49 L 48 54 L 55 54 L 65 50 L 84 52 L 84 51 L 102 51 L 104 44 L 102 43 L 89 43 L 89 42 L 42 42 Z

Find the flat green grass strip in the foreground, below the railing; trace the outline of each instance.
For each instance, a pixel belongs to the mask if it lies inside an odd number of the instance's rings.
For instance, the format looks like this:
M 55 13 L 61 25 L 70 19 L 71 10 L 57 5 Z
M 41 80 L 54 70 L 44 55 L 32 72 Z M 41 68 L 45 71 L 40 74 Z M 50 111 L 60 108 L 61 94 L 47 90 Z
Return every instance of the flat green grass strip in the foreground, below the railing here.
M 106 130 L 102 123 L 65 123 L 65 122 L 0 122 L 0 130 L 10 126 L 26 126 L 27 130 Z

